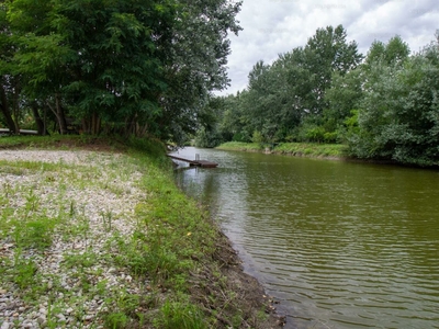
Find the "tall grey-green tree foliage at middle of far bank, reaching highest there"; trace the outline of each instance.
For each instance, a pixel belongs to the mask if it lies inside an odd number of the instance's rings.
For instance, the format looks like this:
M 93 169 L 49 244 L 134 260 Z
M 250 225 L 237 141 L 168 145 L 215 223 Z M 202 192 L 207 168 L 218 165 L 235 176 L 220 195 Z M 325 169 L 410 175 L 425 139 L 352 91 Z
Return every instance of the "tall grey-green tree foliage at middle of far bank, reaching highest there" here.
M 256 63 L 249 72 L 248 89 L 224 99 L 226 110 L 219 117 L 224 140 L 255 141 L 254 132 L 260 134 L 258 140 L 266 143 L 334 140 L 345 109 L 341 114 L 337 110 L 328 112 L 333 127 L 320 128 L 322 122 L 311 127 L 305 121 L 323 115 L 330 102 L 325 95 L 333 77 L 341 79 L 361 58 L 357 44 L 347 42 L 347 33 L 339 25 L 318 29 L 305 47 L 279 55 L 271 65 Z M 349 98 L 350 94 L 344 95 Z M 325 138 L 326 133 L 333 135 Z

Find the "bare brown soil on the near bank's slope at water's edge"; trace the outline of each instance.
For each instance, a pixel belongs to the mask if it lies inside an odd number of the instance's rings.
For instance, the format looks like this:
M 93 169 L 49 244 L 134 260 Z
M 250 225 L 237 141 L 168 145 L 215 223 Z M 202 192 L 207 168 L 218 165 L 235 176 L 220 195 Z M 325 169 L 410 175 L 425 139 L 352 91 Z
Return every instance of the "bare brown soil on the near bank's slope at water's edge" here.
M 243 271 L 241 261 L 233 249 L 228 238 L 218 231 L 216 253 L 213 262 L 219 263 L 221 274 L 227 280 L 218 284 L 217 274 L 213 273 L 210 263 L 202 274 L 192 276 L 191 295 L 204 310 L 215 315 L 216 328 L 236 328 L 230 319 L 236 308 L 241 310 L 245 320 L 239 328 L 280 328 L 284 326 L 285 317 L 275 313 L 274 302 L 266 295 L 263 286 L 251 275 Z M 234 298 L 230 300 L 230 294 Z M 209 296 L 215 296 L 214 299 Z

